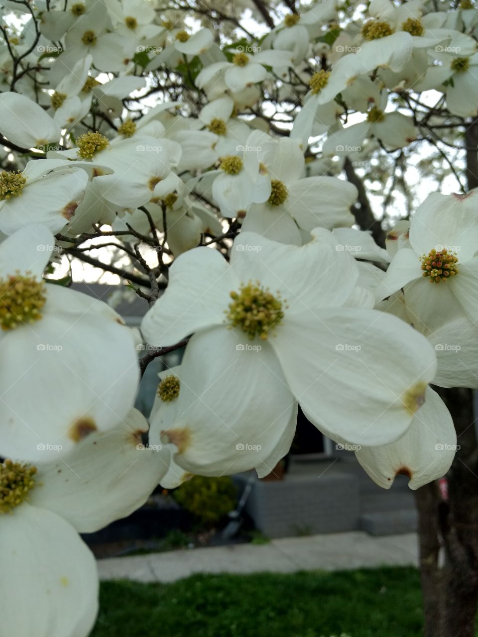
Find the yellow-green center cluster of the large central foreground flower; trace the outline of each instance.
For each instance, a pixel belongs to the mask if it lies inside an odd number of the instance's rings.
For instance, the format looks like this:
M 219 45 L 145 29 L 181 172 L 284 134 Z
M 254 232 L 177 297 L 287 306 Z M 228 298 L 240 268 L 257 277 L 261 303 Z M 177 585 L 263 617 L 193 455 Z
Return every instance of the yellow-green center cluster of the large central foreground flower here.
M 229 325 L 240 327 L 249 338 L 258 336 L 266 340 L 284 317 L 284 302 L 280 292 L 274 296 L 268 288 L 261 287 L 259 281 L 242 284 L 239 292 L 231 292 L 231 299 L 226 310 Z

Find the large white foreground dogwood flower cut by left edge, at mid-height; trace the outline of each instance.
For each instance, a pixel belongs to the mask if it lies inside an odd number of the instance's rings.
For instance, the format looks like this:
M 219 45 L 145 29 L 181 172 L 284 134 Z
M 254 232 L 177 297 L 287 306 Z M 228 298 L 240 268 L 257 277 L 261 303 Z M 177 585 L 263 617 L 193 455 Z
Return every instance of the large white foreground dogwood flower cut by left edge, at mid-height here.
M 46 448 L 47 458 L 56 455 L 52 445 L 66 453 L 115 426 L 136 394 L 133 334 L 102 301 L 45 283 L 54 247 L 35 224 L 0 244 L 3 457 L 34 461 Z

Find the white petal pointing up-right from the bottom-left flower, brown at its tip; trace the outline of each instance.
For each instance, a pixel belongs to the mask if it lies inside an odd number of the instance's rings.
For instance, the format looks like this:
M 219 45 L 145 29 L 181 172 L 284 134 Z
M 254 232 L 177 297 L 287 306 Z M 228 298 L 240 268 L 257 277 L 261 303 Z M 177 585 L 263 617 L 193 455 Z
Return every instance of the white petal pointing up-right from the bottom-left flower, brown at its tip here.
M 94 533 L 142 506 L 166 475 L 170 452 L 144 447 L 148 424 L 131 410 L 110 431 L 92 433 L 61 460 L 37 462 L 38 487 L 30 502 Z

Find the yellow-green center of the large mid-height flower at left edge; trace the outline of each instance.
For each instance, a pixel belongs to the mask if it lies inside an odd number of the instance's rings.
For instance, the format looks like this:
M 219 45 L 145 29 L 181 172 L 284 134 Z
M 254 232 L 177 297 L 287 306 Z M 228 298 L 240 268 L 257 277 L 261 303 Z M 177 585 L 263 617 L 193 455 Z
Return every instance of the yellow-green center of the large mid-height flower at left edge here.
M 45 301 L 45 283 L 37 281 L 33 276 L 22 276 L 17 272 L 6 279 L 0 279 L 1 329 L 13 329 L 20 323 L 40 320 Z

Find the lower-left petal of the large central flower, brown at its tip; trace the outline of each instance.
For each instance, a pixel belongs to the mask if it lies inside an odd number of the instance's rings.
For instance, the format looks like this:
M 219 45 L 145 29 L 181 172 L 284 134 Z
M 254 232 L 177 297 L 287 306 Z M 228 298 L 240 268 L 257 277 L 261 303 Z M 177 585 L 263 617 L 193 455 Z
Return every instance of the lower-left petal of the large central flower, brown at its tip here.
M 283 438 L 290 440 L 284 430 L 290 429 L 295 401 L 272 348 L 226 327 L 192 337 L 177 401 L 175 421 L 166 429 L 160 407 L 151 429 L 177 445 L 175 461 L 191 473 L 224 475 L 263 466 Z

